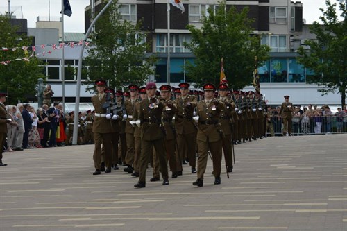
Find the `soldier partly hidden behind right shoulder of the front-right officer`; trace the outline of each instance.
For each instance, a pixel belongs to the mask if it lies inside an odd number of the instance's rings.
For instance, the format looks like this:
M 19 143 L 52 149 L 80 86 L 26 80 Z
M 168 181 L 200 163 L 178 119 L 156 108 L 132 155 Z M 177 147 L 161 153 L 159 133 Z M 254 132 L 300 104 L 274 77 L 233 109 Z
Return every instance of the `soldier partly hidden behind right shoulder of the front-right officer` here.
M 226 161 L 227 171 L 232 172 L 232 123 L 231 123 L 231 114 L 235 112 L 235 103 L 232 99 L 228 99 L 227 94 L 229 87 L 225 83 L 219 85 L 219 100 L 224 103 L 225 107 L 221 110 L 221 115 L 219 121 L 221 123 L 221 128 L 223 130 L 223 153 L 224 160 Z

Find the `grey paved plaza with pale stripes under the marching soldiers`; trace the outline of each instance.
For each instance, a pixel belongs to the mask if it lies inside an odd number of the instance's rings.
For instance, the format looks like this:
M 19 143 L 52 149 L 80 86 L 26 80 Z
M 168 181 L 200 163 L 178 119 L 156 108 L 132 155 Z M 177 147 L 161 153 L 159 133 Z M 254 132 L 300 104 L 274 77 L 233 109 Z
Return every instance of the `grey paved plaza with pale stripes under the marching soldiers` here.
M 213 185 L 208 160 L 201 188 L 189 165 L 142 189 L 123 167 L 92 176 L 93 148 L 3 153 L 0 230 L 347 230 L 347 135 L 237 145 L 230 178 Z

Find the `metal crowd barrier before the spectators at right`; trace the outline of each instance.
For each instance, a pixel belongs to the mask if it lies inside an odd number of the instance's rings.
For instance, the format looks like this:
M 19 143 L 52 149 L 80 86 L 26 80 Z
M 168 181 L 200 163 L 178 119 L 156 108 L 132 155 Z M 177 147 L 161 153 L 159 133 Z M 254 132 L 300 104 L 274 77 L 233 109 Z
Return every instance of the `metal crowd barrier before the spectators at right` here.
M 347 133 L 347 116 L 345 117 L 293 117 L 291 135 L 322 135 Z M 282 117 L 272 117 L 271 124 L 276 136 L 282 136 Z M 271 135 L 267 126 L 266 135 Z

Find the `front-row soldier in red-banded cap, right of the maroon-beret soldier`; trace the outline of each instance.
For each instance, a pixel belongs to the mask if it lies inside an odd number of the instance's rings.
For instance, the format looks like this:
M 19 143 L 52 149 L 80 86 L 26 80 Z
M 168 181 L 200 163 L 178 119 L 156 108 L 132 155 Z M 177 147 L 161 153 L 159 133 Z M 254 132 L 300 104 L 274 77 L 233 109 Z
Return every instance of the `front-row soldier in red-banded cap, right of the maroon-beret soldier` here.
M 194 117 L 198 121 L 198 179 L 193 185 L 203 186 L 203 174 L 208 163 L 208 151 L 210 150 L 213 162 L 214 185 L 221 183 L 221 146 L 223 131 L 219 123 L 223 103 L 214 99 L 216 87 L 212 83 L 203 85 L 205 99 L 197 105 L 198 115 Z

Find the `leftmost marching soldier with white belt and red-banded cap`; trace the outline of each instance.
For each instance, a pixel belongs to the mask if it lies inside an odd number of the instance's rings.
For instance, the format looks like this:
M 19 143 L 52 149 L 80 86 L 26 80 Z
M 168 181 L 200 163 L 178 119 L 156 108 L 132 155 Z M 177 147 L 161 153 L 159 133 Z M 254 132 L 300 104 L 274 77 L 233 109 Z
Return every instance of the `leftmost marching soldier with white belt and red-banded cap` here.
M 95 171 L 93 175 L 101 174 L 101 144 L 105 147 L 105 166 L 106 172 L 111 171 L 112 164 L 112 128 L 110 126 L 109 119 L 106 118 L 106 109 L 103 108 L 103 104 L 106 102 L 105 96 L 105 80 L 95 81 L 96 90 L 98 94 L 92 96 L 92 104 L 95 108 L 95 117 L 93 123 L 94 133 L 94 167 Z

